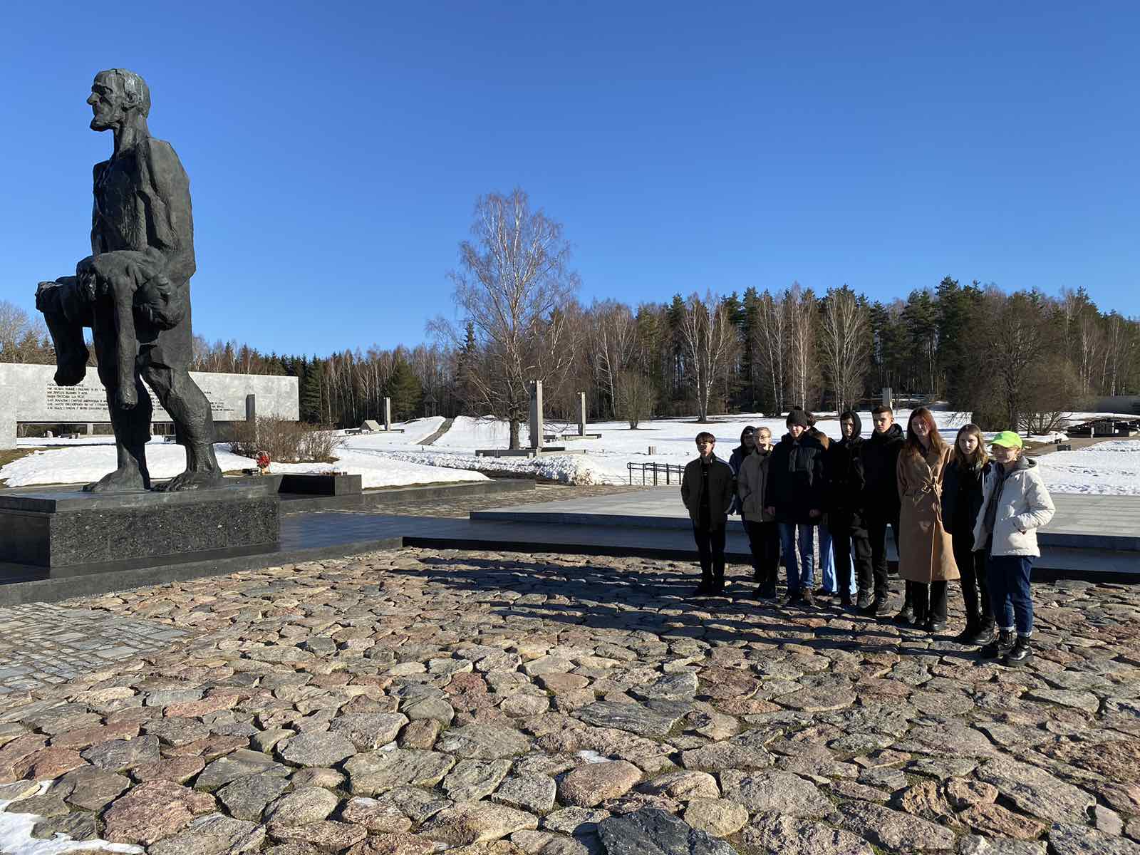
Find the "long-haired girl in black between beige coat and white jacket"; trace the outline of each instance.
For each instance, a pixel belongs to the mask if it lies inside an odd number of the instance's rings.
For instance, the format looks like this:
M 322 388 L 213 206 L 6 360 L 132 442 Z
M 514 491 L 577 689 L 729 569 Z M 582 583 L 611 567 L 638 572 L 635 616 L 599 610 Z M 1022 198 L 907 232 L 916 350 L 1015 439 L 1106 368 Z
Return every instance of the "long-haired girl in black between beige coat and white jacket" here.
M 986 583 L 986 552 L 974 549 L 974 527 L 982 513 L 982 495 L 987 480 L 996 477 L 986 454 L 982 429 L 964 425 L 954 440 L 954 457 L 946 466 L 942 484 L 942 524 L 954 545 L 954 561 L 962 575 L 966 628 L 954 638 L 959 644 L 988 644 L 994 637 L 994 612 Z

